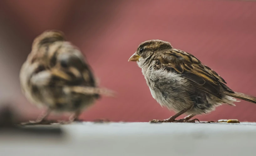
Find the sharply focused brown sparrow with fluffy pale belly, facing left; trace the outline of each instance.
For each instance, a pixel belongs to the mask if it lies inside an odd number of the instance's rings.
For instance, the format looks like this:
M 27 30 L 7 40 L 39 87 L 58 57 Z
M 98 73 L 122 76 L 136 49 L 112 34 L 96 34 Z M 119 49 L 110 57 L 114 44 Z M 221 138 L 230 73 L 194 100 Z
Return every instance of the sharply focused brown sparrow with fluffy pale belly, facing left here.
M 177 114 L 151 122 L 195 122 L 196 115 L 214 111 L 217 106 L 237 99 L 256 103 L 256 97 L 234 92 L 226 81 L 195 56 L 175 49 L 169 42 L 148 40 L 141 43 L 128 61 L 136 61 L 142 69 L 153 98 Z M 187 114 L 184 119 L 175 120 Z

